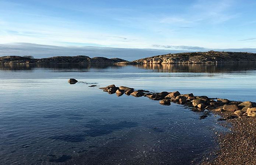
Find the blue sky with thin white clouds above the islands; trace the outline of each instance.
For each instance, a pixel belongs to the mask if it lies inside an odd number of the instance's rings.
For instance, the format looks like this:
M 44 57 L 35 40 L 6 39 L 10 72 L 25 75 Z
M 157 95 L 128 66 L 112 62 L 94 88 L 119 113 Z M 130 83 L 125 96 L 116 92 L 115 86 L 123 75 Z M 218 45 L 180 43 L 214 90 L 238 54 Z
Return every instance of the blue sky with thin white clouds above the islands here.
M 256 0 L 0 0 L 0 55 L 256 52 L 255 8 Z

